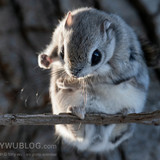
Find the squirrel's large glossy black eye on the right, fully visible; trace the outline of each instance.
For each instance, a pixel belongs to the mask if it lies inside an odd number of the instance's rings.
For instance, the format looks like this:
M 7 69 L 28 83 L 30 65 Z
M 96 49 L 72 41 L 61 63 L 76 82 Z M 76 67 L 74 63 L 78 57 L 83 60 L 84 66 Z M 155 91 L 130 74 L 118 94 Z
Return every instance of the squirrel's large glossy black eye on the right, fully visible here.
M 91 66 L 97 65 L 101 61 L 101 53 L 98 49 L 96 49 L 92 54 Z

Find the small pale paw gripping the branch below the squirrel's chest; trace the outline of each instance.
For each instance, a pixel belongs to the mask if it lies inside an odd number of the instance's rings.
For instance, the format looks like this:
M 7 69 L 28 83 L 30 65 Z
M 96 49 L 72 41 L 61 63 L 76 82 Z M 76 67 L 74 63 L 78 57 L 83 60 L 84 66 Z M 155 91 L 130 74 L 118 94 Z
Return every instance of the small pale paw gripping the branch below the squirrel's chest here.
M 82 106 L 70 106 L 68 107 L 68 112 L 71 112 L 72 114 L 76 115 L 77 117 L 79 117 L 80 119 L 84 119 L 85 118 L 85 107 Z

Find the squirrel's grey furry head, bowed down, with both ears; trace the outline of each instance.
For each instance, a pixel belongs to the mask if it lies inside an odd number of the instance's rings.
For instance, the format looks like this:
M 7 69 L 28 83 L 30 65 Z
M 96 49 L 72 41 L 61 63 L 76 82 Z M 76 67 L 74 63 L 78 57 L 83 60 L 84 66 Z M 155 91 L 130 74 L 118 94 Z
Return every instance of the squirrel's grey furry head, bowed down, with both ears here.
M 66 73 L 77 78 L 105 74 L 115 48 L 114 25 L 108 17 L 95 9 L 82 8 L 68 12 L 59 28 L 57 38 L 53 38 Z M 52 60 L 42 58 L 48 67 Z

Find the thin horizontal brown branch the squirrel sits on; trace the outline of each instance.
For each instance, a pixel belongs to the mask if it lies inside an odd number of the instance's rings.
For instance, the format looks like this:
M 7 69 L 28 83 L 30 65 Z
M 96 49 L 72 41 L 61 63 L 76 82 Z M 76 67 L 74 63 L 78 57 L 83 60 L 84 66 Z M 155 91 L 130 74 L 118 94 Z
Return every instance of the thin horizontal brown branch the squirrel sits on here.
M 87 114 L 84 120 L 68 113 L 52 114 L 4 114 L 0 115 L 0 125 L 55 125 L 55 124 L 118 124 L 139 123 L 160 125 L 160 110 L 151 113 L 133 113 L 128 115 Z

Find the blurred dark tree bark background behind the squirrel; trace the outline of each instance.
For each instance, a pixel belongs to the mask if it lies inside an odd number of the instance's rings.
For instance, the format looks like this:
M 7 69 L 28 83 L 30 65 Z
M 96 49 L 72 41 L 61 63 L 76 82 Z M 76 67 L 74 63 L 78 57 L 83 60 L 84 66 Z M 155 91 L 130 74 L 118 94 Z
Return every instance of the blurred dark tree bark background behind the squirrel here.
M 94 8 L 120 15 L 138 35 L 160 46 L 160 0 L 0 0 L 0 113 L 51 113 L 49 71 L 37 55 L 50 42 L 58 20 L 69 10 Z M 160 109 L 160 72 L 150 70 L 145 111 Z M 54 136 L 53 126 L 0 126 L 0 143 L 55 144 L 56 149 L 4 149 L 0 159 L 160 160 L 160 127 L 137 125 L 134 136 L 115 151 L 79 152 Z M 19 156 L 1 156 L 1 153 Z M 47 156 L 47 153 L 55 155 Z M 46 153 L 26 156 L 26 153 Z

